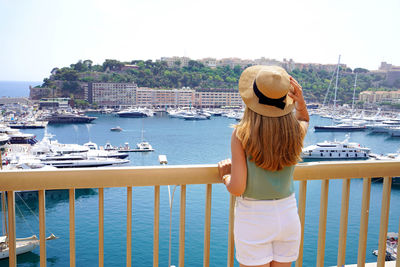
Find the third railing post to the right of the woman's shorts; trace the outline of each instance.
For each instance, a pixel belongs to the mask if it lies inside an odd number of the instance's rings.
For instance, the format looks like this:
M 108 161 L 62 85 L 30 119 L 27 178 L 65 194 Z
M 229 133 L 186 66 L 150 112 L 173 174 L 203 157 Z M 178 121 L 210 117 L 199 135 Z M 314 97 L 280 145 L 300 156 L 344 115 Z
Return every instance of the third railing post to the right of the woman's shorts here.
M 337 265 L 343 266 L 346 261 L 346 237 L 349 217 L 350 179 L 343 179 L 342 207 L 340 209 L 340 230 Z

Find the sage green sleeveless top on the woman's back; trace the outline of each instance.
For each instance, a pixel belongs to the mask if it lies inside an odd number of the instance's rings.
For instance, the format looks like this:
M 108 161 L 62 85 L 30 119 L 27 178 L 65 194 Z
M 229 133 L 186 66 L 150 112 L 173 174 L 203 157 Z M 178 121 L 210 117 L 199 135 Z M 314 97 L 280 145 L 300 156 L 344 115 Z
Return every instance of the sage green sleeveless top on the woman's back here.
M 293 166 L 280 171 L 268 171 L 257 167 L 247 158 L 247 184 L 243 197 L 260 200 L 281 199 L 294 193 Z

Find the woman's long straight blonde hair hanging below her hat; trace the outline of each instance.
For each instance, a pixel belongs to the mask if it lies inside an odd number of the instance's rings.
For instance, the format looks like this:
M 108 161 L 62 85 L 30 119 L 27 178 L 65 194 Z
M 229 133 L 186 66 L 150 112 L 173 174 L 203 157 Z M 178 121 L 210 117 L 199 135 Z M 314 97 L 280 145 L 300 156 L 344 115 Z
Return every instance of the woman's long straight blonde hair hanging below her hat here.
M 242 120 L 234 128 L 246 156 L 258 167 L 279 171 L 301 160 L 306 129 L 292 112 L 282 117 L 266 117 L 246 107 Z

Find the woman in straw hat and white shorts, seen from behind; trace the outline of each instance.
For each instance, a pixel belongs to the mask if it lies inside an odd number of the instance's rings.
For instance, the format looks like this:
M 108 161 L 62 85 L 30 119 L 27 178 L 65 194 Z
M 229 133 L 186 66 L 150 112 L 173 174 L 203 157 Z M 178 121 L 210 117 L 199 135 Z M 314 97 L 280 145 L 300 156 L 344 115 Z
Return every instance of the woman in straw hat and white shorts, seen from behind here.
M 289 267 L 300 245 L 293 171 L 308 128 L 307 106 L 301 86 L 277 66 L 245 69 L 239 92 L 246 109 L 232 133 L 232 162 L 218 163 L 226 188 L 238 196 L 236 259 L 242 267 Z

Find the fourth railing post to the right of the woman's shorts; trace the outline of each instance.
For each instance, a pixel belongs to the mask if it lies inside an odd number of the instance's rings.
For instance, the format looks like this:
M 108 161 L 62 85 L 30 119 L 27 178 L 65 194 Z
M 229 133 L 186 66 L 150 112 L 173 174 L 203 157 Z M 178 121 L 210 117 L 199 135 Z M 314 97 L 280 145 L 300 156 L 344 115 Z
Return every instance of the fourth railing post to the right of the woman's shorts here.
M 358 241 L 358 258 L 357 258 L 358 266 L 365 265 L 370 195 L 371 195 L 371 178 L 364 178 L 363 196 L 361 203 L 360 234 Z

